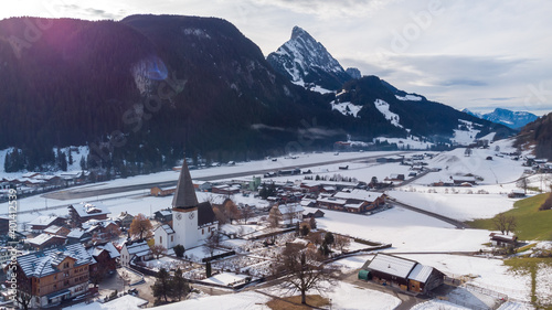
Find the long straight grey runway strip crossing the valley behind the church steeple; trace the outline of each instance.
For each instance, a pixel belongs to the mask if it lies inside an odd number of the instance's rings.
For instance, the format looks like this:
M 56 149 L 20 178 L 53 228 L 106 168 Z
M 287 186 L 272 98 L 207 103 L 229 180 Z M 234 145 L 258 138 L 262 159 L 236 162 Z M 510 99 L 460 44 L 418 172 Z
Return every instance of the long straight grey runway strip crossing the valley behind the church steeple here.
M 411 152 L 406 152 L 406 151 L 405 152 L 393 152 L 393 156 L 406 154 L 406 153 L 411 153 Z M 389 156 L 390 154 L 380 154 L 380 156 L 359 157 L 355 159 L 336 159 L 336 160 L 329 160 L 329 161 L 317 162 L 317 163 L 305 163 L 305 164 L 294 164 L 294 165 L 287 165 L 287 167 L 279 167 L 278 170 L 289 170 L 289 169 L 296 169 L 296 168 L 305 169 L 305 168 L 312 168 L 312 167 L 318 167 L 318 165 L 323 165 L 323 164 L 333 164 L 333 163 L 341 163 L 341 162 L 349 162 L 349 161 L 375 161 L 375 159 L 378 159 L 378 158 L 389 157 Z M 247 175 L 265 174 L 267 172 L 273 172 L 274 170 L 275 170 L 275 168 L 258 169 L 258 170 L 216 174 L 216 175 L 209 175 L 209 177 L 194 178 L 194 179 L 200 180 L 200 181 L 214 181 L 214 180 L 241 178 L 241 177 L 247 177 Z M 153 182 L 153 183 L 142 183 L 142 184 L 126 185 L 126 186 L 117 186 L 117 188 L 98 189 L 98 190 L 84 190 L 84 189 L 71 190 L 71 189 L 68 189 L 68 190 L 64 190 L 64 191 L 46 193 L 43 196 L 46 199 L 55 199 L 55 200 L 74 200 L 74 199 L 86 199 L 86 197 L 131 192 L 131 191 L 139 191 L 139 190 L 149 190 L 153 186 L 171 188 L 171 186 L 176 186 L 176 185 L 177 185 L 177 180 L 167 181 L 167 182 Z

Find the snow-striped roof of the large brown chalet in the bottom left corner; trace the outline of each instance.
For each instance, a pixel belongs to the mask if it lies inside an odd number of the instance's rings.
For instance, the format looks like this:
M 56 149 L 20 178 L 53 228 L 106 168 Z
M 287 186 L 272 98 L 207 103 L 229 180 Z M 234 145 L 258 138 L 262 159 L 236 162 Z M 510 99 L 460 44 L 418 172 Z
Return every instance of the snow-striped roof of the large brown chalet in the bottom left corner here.
M 18 264 L 26 277 L 44 277 L 61 271 L 57 265 L 65 258 L 75 259 L 75 267 L 94 264 L 96 260 L 82 244 L 72 244 L 18 257 Z

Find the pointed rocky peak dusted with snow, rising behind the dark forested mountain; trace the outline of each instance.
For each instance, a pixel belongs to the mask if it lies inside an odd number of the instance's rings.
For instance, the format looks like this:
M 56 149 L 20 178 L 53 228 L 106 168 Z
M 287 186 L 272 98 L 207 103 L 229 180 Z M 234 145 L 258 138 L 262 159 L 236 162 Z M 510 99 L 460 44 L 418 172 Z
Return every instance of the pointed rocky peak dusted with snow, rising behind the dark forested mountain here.
M 351 79 L 326 47 L 299 26 L 294 26 L 291 39 L 266 60 L 274 70 L 301 86 L 314 84 L 336 90 Z

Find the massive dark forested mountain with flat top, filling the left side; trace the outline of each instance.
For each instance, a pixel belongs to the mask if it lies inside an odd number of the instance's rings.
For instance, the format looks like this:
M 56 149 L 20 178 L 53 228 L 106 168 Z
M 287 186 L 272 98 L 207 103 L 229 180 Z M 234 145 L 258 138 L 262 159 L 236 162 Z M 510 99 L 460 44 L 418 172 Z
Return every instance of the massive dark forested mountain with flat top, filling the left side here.
M 9 132 L 0 149 L 22 150 L 29 170 L 52 162 L 53 147 L 91 145 L 93 167 L 144 172 L 184 150 L 216 161 L 283 152 L 314 118 L 332 129 L 304 149 L 348 130 L 322 95 L 277 74 L 233 24 L 177 15 L 0 21 L 0 116 Z

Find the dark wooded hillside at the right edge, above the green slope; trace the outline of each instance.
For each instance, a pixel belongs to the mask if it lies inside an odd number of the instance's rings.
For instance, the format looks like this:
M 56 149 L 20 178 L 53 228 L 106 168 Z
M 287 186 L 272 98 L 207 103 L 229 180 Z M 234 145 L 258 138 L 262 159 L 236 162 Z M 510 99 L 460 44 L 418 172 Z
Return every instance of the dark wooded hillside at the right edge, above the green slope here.
M 514 147 L 533 149 L 538 158 L 552 161 L 552 113 L 526 125 L 516 137 Z

